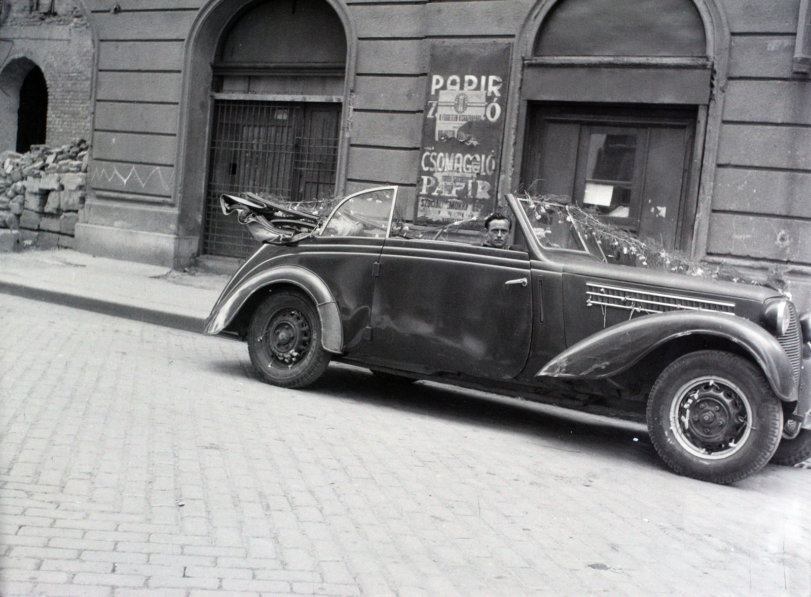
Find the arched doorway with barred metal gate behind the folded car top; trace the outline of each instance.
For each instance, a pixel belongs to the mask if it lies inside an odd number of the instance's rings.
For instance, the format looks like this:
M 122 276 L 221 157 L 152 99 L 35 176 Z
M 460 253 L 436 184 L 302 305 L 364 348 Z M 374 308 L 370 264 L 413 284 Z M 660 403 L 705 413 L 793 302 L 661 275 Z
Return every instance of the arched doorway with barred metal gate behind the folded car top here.
M 345 62 L 344 28 L 325 0 L 270 0 L 226 28 L 212 65 L 203 254 L 242 258 L 256 247 L 222 215 L 222 193 L 334 194 Z

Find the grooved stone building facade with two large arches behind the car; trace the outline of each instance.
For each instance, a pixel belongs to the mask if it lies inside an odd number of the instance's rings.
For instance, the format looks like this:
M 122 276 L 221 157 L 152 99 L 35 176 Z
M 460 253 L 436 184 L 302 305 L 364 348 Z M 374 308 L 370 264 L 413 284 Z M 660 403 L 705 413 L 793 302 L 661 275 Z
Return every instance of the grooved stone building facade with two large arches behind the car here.
M 79 250 L 242 257 L 224 191 L 397 184 L 443 218 L 529 190 L 811 306 L 808 0 L 84 2 Z

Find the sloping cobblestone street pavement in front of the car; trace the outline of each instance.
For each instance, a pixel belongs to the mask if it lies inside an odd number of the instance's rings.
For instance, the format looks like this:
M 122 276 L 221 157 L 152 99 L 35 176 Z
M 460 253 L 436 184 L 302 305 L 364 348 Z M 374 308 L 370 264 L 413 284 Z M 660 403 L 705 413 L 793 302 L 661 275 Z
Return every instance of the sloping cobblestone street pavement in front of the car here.
M 811 471 L 734 486 L 644 434 L 0 295 L 11 595 L 811 593 Z

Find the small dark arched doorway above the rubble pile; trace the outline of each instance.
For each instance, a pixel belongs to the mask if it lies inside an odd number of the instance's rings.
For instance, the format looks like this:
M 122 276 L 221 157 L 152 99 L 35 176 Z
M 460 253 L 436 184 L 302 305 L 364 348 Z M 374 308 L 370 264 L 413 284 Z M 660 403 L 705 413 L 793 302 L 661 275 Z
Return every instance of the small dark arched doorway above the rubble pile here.
M 39 66 L 16 58 L 0 73 L 0 147 L 24 153 L 45 143 L 48 120 L 48 84 Z

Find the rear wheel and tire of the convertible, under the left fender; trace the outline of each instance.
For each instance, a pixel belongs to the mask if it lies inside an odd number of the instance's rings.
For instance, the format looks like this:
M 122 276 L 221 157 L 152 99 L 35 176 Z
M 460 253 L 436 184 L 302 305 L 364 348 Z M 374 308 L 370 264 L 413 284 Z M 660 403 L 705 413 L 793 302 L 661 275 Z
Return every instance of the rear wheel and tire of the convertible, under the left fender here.
M 251 318 L 247 343 L 257 373 L 274 386 L 309 386 L 329 365 L 318 311 L 303 292 L 272 291 Z

